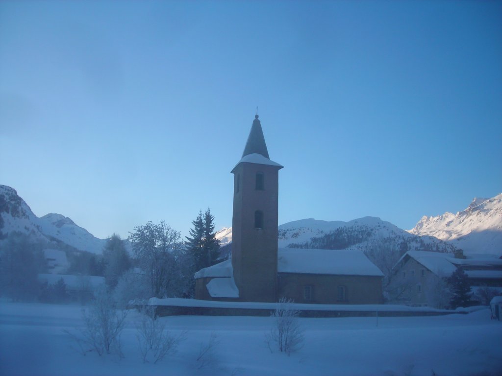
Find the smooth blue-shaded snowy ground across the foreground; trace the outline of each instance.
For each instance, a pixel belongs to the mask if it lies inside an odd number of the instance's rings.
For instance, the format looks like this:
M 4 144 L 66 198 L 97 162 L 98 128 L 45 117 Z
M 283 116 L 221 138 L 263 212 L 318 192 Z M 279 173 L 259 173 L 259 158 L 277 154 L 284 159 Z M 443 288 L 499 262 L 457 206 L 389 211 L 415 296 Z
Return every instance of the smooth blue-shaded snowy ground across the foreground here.
M 1 375 L 500 375 L 502 322 L 488 309 L 437 317 L 302 318 L 304 346 L 287 356 L 264 341 L 269 317 L 172 316 L 188 330 L 175 355 L 143 363 L 131 311 L 122 334 L 125 358 L 82 355 L 64 329 L 78 332 L 81 307 L 0 301 Z M 201 344 L 219 341 L 212 364 L 199 368 Z

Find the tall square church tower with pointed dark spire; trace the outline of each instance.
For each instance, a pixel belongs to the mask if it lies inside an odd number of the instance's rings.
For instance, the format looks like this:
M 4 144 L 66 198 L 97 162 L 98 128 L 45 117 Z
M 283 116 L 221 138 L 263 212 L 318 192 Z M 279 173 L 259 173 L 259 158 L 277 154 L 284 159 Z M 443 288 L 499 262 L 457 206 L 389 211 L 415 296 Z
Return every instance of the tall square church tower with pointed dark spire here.
M 242 301 L 277 301 L 279 170 L 258 115 L 234 174 L 232 267 Z

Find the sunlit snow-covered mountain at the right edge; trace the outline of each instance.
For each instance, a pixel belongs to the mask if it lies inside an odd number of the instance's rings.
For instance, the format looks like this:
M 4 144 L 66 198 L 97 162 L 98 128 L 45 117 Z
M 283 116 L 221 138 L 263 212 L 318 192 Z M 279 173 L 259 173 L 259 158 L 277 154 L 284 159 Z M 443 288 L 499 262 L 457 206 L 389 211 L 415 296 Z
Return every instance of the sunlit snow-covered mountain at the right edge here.
M 502 194 L 491 199 L 475 198 L 457 214 L 424 216 L 409 230 L 430 235 L 468 253 L 502 254 Z

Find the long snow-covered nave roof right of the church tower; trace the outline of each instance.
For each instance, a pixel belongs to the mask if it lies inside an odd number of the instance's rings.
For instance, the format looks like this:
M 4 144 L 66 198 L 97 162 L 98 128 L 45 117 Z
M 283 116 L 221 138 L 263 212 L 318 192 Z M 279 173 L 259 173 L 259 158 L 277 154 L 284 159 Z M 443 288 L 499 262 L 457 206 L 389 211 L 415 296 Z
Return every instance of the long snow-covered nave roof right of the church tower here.
M 366 275 L 382 271 L 358 250 L 279 248 L 279 273 Z

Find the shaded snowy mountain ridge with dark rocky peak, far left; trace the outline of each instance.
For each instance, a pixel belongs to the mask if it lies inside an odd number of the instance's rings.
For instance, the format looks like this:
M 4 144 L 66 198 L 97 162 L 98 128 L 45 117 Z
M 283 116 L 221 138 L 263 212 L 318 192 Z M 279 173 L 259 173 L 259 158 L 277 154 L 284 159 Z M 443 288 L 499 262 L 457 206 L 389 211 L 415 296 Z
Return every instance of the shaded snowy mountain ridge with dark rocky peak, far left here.
M 37 240 L 62 242 L 80 251 L 101 253 L 106 239 L 98 239 L 61 214 L 37 217 L 16 190 L 0 184 L 0 232 L 28 234 Z

